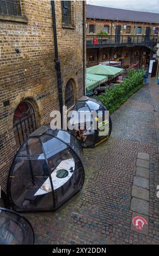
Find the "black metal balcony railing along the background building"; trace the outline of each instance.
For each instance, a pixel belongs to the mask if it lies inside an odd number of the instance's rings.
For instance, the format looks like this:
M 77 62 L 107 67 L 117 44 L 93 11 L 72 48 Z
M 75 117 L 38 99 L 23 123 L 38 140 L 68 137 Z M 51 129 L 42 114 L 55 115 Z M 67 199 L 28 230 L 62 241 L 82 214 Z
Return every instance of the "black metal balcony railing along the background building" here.
M 146 46 L 153 48 L 158 42 L 157 35 L 87 35 L 87 48 L 114 46 Z

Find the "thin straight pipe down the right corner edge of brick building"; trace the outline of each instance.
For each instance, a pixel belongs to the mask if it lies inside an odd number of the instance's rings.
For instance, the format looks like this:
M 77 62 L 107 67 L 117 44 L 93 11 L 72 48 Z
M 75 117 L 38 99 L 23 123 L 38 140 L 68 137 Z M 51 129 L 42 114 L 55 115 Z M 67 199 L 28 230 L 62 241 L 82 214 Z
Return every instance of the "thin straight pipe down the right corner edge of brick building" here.
M 85 1 L 83 1 L 83 94 L 85 91 Z

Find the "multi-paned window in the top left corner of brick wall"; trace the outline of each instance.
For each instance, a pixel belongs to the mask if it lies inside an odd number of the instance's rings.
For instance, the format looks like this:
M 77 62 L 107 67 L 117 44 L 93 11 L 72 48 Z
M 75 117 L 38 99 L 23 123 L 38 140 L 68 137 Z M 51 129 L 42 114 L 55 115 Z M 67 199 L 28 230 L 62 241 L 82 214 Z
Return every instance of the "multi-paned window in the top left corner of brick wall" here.
M 0 14 L 22 16 L 20 1 L 16 0 L 0 0 Z

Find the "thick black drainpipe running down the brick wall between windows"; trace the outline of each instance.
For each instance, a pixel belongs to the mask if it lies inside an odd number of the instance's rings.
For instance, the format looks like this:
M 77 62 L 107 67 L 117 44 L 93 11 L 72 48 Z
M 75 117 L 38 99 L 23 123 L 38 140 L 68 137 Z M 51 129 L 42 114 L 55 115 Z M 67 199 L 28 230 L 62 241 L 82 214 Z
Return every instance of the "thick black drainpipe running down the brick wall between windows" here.
M 54 62 L 56 72 L 57 72 L 57 83 L 58 83 L 58 96 L 59 96 L 59 106 L 60 106 L 60 114 L 61 114 L 61 127 L 63 128 L 63 91 L 62 91 L 62 76 L 60 70 L 60 60 L 58 58 L 58 45 L 57 45 L 57 31 L 56 31 L 56 14 L 54 1 L 51 1 L 52 6 L 52 20 L 53 20 L 53 38 L 54 38 L 54 51 L 55 51 L 55 59 Z

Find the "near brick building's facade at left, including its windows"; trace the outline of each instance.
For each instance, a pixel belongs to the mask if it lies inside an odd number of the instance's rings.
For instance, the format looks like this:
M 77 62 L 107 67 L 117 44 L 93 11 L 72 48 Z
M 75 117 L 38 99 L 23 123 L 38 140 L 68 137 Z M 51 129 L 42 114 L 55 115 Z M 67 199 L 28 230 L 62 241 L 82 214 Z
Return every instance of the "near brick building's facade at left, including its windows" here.
M 63 105 L 84 93 L 83 1 L 53 1 Z M 60 110 L 52 1 L 0 1 L 0 185 L 20 145 Z

